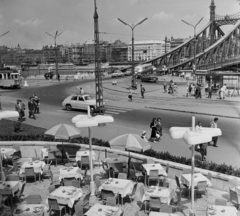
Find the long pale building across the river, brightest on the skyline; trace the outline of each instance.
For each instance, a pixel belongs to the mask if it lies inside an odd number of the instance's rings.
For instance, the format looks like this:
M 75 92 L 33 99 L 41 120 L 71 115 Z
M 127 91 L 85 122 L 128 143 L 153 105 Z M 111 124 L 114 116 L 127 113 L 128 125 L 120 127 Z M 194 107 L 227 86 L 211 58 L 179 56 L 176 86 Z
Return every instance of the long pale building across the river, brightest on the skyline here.
M 134 61 L 148 61 L 170 51 L 170 43 L 161 40 L 134 41 Z M 128 44 L 128 61 L 132 61 L 132 42 Z

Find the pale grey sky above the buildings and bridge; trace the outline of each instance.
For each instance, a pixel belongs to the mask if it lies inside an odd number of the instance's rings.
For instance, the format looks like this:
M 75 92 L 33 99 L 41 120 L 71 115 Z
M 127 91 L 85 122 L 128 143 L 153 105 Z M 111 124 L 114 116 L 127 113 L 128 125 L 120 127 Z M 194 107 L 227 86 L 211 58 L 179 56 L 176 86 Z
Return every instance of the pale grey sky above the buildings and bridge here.
M 99 16 L 100 39 L 129 43 L 131 29 L 148 18 L 134 30 L 135 40 L 164 40 L 187 38 L 193 28 L 181 20 L 196 24 L 197 31 L 209 22 L 211 0 L 96 0 Z M 238 0 L 215 0 L 216 14 L 230 15 L 239 12 Z M 84 43 L 94 38 L 94 0 L 0 0 L 0 46 L 41 49 L 54 44 L 47 35 L 62 34 L 57 44 Z

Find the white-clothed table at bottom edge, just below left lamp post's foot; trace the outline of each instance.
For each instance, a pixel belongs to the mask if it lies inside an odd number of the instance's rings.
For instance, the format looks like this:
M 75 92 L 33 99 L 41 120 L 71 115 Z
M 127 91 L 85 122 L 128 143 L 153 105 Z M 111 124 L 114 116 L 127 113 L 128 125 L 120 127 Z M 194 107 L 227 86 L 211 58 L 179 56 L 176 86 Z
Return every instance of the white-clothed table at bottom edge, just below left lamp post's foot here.
M 119 207 L 101 205 L 99 203 L 96 203 L 84 215 L 106 216 L 108 213 L 112 216 L 120 216 L 122 214 L 122 210 Z

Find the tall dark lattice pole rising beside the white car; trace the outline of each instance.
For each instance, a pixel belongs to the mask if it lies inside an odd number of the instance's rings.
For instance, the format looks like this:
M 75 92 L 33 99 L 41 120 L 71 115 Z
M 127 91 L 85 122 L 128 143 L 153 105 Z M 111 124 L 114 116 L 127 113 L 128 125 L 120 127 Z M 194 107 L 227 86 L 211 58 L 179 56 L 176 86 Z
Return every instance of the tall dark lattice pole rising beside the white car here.
M 98 28 L 98 13 L 97 3 L 94 0 L 94 40 L 95 40 L 95 91 L 96 91 L 96 111 L 100 115 L 104 115 L 103 104 L 103 88 L 102 88 L 102 71 L 99 60 L 99 28 Z

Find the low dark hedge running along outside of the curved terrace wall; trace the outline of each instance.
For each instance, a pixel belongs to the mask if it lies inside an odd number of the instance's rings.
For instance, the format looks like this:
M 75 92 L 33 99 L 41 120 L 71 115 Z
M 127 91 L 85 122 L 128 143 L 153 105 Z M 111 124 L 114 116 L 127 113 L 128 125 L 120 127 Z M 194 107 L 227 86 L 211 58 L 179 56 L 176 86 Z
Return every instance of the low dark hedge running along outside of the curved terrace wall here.
M 0 135 L 0 141 L 56 141 L 53 138 L 45 137 L 44 135 Z M 58 141 L 66 141 L 66 140 L 58 140 Z M 79 143 L 79 144 L 87 144 L 89 143 L 88 137 L 79 137 L 72 140 L 69 140 L 71 143 Z M 102 147 L 110 147 L 109 143 L 107 141 L 92 138 L 92 144 Z M 154 157 L 161 160 L 167 160 L 172 161 L 175 163 L 185 164 L 185 165 L 191 165 L 191 159 L 181 156 L 174 156 L 171 155 L 169 152 L 160 152 L 155 150 L 147 150 L 143 155 Z M 196 160 L 195 163 L 196 167 L 199 167 L 201 169 L 211 170 L 227 175 L 232 175 L 236 177 L 240 177 L 240 168 L 233 167 L 231 165 L 227 165 L 225 163 L 223 164 L 216 164 L 214 162 L 207 162 L 207 161 L 200 161 Z

